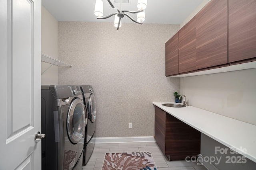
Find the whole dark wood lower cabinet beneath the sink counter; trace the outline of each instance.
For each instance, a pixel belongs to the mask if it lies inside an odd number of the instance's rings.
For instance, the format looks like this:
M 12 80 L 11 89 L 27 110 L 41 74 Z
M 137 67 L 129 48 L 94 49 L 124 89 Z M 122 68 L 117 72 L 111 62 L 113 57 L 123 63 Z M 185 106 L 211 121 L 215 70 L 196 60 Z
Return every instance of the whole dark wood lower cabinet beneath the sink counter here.
M 200 154 L 201 133 L 156 106 L 154 138 L 168 160 Z

